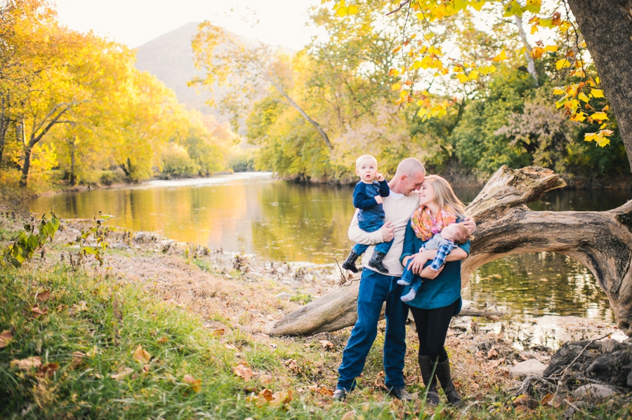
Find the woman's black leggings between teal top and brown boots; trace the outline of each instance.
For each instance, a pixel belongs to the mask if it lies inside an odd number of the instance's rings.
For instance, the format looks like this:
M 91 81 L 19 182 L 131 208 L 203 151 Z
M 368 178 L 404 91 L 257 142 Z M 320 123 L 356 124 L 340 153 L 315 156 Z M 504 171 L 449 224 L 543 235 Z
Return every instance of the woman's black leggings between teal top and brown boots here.
M 460 304 L 459 301 L 460 299 L 457 299 L 453 304 L 437 309 L 419 309 L 409 306 L 419 336 L 419 355 L 429 355 L 433 362 L 437 358 L 439 358 L 439 363 L 447 360 L 443 345 L 450 320 Z

